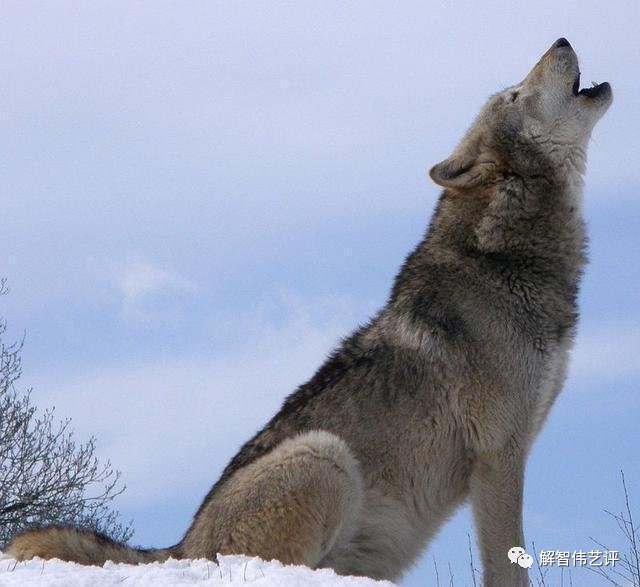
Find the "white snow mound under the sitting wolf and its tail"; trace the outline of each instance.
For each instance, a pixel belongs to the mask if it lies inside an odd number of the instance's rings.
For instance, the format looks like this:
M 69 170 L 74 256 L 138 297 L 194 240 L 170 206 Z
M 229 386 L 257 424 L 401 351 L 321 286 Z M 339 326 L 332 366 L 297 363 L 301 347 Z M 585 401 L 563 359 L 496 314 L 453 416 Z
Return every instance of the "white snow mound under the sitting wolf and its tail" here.
M 341 577 L 330 569 L 285 566 L 246 556 L 218 556 L 208 560 L 175 560 L 148 565 L 107 562 L 104 567 L 85 567 L 60 560 L 33 559 L 19 563 L 0 553 L 0 586 L 112 587 L 136 585 L 255 585 L 256 587 L 392 587 L 388 581 L 365 577 Z

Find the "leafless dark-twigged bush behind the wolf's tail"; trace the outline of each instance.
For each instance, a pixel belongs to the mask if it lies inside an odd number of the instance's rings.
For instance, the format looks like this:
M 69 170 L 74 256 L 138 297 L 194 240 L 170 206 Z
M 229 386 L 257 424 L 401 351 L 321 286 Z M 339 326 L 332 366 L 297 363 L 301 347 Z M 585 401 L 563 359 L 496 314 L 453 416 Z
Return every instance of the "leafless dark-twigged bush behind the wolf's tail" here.
M 0 279 L 0 296 L 7 293 Z M 126 541 L 131 525 L 110 502 L 125 487 L 111 463 L 94 456 L 95 439 L 77 444 L 68 419 L 54 409 L 38 415 L 31 391 L 19 392 L 22 342 L 5 343 L 0 318 L 0 548 L 31 526 L 73 524 Z

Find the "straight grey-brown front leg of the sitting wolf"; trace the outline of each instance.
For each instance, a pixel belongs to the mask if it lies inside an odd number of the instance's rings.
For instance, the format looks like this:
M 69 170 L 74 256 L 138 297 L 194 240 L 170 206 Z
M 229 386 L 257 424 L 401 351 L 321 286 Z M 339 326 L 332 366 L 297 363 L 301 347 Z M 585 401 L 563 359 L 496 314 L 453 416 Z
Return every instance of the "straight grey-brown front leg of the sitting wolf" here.
M 528 587 L 527 570 L 507 553 L 524 548 L 522 493 L 525 455 L 513 446 L 477 457 L 471 503 L 480 542 L 484 587 Z

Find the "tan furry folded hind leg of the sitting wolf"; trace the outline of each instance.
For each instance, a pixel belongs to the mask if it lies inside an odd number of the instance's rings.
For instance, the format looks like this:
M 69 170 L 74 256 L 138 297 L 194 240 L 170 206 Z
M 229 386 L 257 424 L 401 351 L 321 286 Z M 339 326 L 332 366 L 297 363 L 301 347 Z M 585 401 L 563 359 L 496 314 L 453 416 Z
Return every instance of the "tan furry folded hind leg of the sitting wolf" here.
M 315 567 L 353 531 L 361 502 L 358 462 L 346 443 L 303 433 L 237 471 L 194 521 L 184 552 L 213 558 L 213 547 Z

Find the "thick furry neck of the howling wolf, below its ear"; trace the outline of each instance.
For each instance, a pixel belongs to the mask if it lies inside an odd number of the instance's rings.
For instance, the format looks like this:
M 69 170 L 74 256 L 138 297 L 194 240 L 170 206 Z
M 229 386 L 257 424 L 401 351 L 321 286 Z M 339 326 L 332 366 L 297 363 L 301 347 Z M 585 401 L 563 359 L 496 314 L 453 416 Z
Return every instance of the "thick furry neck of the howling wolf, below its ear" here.
M 467 193 L 445 190 L 425 244 L 463 255 L 581 265 L 584 158 L 563 161 L 553 173 L 512 174 Z

